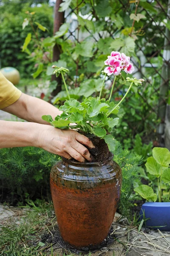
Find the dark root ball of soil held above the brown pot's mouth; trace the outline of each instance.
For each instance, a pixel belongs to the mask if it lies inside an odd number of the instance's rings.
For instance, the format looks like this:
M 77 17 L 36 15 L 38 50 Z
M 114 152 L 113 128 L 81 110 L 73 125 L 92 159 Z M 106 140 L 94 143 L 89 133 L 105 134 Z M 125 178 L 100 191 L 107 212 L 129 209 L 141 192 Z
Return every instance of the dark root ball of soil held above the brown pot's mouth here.
M 95 146 L 95 148 L 88 148 L 87 146 L 85 146 L 91 153 L 93 162 L 102 163 L 108 160 L 110 156 L 110 151 L 108 149 L 108 145 L 105 143 L 105 140 L 96 137 L 94 134 L 85 134 L 85 136 L 88 137 Z

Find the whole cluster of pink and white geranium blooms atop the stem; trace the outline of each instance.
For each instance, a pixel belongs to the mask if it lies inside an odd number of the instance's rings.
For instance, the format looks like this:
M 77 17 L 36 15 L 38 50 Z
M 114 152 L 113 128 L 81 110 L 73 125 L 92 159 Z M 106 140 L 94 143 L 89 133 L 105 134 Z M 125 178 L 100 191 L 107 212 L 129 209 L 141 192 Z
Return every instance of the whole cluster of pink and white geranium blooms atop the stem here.
M 112 74 L 118 76 L 122 70 L 131 74 L 135 70 L 133 64 L 130 63 L 130 57 L 120 52 L 111 52 L 111 55 L 108 56 L 108 59 L 105 61 L 105 65 L 109 66 L 104 70 L 108 76 Z

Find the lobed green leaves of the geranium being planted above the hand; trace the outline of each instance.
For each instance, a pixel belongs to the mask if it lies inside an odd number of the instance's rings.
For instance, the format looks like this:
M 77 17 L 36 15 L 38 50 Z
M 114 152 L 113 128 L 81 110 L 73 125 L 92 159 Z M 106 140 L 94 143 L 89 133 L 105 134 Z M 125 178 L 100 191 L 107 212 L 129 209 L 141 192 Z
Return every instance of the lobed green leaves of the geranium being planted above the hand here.
M 113 152 L 113 137 L 111 134 L 106 135 L 106 132 L 111 131 L 111 128 L 117 125 L 119 120 L 119 118 L 113 119 L 107 116 L 110 113 L 110 108 L 112 110 L 113 106 L 113 102 L 93 97 L 86 98 L 82 103 L 76 99 L 70 99 L 66 100 L 64 105 L 59 108 L 63 113 L 60 116 L 56 116 L 55 121 L 52 120 L 50 115 L 44 115 L 42 119 L 50 122 L 56 128 L 78 129 L 85 132 L 85 134 L 91 133 L 103 138 Z M 76 125 L 69 126 L 71 122 Z

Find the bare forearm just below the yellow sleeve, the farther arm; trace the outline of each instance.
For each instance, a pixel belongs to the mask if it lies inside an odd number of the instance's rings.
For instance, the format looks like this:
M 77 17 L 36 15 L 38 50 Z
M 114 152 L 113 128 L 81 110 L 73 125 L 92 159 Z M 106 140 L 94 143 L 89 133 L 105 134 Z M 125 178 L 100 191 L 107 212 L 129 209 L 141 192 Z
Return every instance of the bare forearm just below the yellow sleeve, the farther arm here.
M 3 111 L 12 113 L 29 122 L 37 122 L 45 125 L 49 123 L 42 120 L 41 116 L 51 115 L 54 119 L 57 115 L 62 113 L 62 111 L 59 111 L 50 103 L 24 93 L 22 93 L 20 99 L 7 108 L 4 108 Z

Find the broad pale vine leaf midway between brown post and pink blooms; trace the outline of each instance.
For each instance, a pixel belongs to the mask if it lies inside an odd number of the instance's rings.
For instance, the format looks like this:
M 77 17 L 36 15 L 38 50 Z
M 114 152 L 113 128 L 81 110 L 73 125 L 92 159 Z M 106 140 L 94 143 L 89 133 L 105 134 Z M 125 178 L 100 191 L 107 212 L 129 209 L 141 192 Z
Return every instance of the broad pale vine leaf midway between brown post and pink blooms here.
M 77 44 L 75 47 L 75 53 L 77 55 L 81 55 L 84 57 L 92 57 L 93 56 L 93 41 L 83 41 L 81 44 Z

